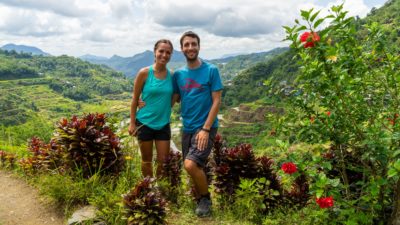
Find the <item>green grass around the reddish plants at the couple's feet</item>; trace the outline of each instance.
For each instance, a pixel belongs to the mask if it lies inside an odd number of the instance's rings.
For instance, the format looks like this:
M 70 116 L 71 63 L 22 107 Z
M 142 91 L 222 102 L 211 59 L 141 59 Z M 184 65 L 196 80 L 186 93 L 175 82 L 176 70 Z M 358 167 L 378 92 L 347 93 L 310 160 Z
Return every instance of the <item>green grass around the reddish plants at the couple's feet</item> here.
M 69 216 L 81 205 L 91 204 L 97 207 L 98 217 L 108 224 L 126 224 L 123 220 L 121 205 L 122 194 L 127 193 L 141 179 L 140 156 L 135 150 L 130 138 L 124 142 L 124 151 L 130 157 L 125 171 L 118 177 L 101 177 L 94 174 L 89 179 L 79 173 L 66 176 L 58 173 L 40 173 L 35 176 L 24 175 L 29 183 L 40 190 L 40 193 L 49 196 L 61 206 L 66 216 Z M 8 148 L 19 155 L 24 155 L 26 149 Z M 15 172 L 22 174 L 20 170 Z M 213 193 L 213 215 L 209 218 L 198 218 L 195 213 L 195 203 L 188 194 L 189 180 L 187 174 L 182 174 L 182 185 L 179 187 L 177 203 L 168 204 L 168 224 L 325 224 L 329 212 L 310 205 L 301 210 L 282 209 L 270 215 L 250 215 L 250 209 L 241 204 L 226 204 L 221 202 Z M 245 197 L 244 197 L 245 198 Z M 251 201 L 251 199 L 248 199 Z M 253 217 L 253 216 L 256 217 Z

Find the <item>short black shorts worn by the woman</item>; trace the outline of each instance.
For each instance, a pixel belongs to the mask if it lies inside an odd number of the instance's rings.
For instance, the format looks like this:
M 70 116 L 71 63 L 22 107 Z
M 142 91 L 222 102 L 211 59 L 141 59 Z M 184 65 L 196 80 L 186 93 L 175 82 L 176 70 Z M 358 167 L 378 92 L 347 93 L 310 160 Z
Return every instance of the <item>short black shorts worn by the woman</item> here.
M 137 137 L 139 141 L 152 141 L 152 140 L 171 140 L 171 127 L 169 123 L 165 125 L 161 130 L 154 130 L 136 120 Z

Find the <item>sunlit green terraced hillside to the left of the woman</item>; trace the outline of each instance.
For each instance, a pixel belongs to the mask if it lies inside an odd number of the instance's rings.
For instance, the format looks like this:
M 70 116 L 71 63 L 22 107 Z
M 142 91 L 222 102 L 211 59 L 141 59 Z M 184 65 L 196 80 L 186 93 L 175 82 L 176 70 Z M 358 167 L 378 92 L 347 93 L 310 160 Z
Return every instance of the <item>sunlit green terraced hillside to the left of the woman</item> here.
M 0 126 L 54 121 L 110 102 L 129 104 L 131 89 L 122 73 L 104 66 L 0 50 Z

